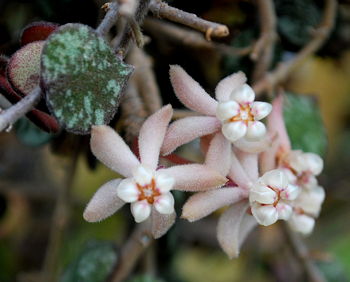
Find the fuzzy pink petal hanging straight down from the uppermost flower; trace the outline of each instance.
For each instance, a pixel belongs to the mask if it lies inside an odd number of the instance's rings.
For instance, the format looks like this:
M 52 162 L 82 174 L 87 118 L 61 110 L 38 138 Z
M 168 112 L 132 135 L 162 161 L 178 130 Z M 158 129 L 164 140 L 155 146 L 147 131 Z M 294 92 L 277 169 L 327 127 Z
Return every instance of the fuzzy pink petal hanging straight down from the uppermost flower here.
M 231 166 L 231 147 L 231 143 L 221 133 L 216 133 L 210 142 L 205 164 L 226 176 Z

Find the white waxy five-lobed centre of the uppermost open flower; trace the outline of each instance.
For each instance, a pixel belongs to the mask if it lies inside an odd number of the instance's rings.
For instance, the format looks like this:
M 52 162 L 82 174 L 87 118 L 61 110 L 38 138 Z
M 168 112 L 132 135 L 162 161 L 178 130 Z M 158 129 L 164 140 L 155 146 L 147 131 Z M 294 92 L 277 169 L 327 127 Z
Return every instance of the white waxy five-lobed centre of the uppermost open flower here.
M 235 89 L 229 101 L 219 102 L 216 117 L 222 122 L 222 133 L 231 142 L 245 137 L 258 140 L 266 133 L 265 125 L 260 121 L 272 110 L 265 102 L 254 102 L 255 93 L 248 84 Z

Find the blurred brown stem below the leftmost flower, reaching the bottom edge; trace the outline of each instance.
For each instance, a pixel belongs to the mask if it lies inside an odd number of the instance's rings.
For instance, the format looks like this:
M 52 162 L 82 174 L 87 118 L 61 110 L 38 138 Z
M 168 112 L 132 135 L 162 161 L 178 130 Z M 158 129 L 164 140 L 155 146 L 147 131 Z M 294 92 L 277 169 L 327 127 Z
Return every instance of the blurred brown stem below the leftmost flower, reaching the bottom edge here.
M 149 233 L 149 225 L 147 223 L 138 224 L 123 245 L 116 267 L 111 274 L 111 282 L 125 281 L 125 278 L 133 270 L 136 262 L 144 253 L 147 247 L 153 242 Z

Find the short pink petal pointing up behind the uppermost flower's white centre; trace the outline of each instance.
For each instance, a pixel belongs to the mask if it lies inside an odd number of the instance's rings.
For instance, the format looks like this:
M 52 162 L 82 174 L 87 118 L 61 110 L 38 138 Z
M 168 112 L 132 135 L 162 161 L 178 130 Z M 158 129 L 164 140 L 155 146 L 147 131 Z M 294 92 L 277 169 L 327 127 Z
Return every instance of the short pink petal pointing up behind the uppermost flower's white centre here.
M 219 102 L 230 99 L 231 93 L 246 83 L 247 78 L 243 72 L 237 72 L 221 80 L 215 89 L 215 97 Z

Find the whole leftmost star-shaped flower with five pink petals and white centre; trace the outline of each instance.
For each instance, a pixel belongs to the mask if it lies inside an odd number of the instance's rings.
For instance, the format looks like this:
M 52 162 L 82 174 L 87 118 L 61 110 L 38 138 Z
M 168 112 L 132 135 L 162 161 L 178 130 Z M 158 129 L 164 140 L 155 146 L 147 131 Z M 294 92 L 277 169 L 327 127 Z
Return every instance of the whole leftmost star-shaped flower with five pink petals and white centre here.
M 200 164 L 157 169 L 160 147 L 172 112 L 170 105 L 165 106 L 144 122 L 138 139 L 140 160 L 112 128 L 93 127 L 92 152 L 102 163 L 126 178 L 111 180 L 95 193 L 85 209 L 85 220 L 103 220 L 125 203 L 131 203 L 136 222 L 151 216 L 152 234 L 158 238 L 171 227 L 176 217 L 171 190 L 202 191 L 226 182 L 225 177 Z

